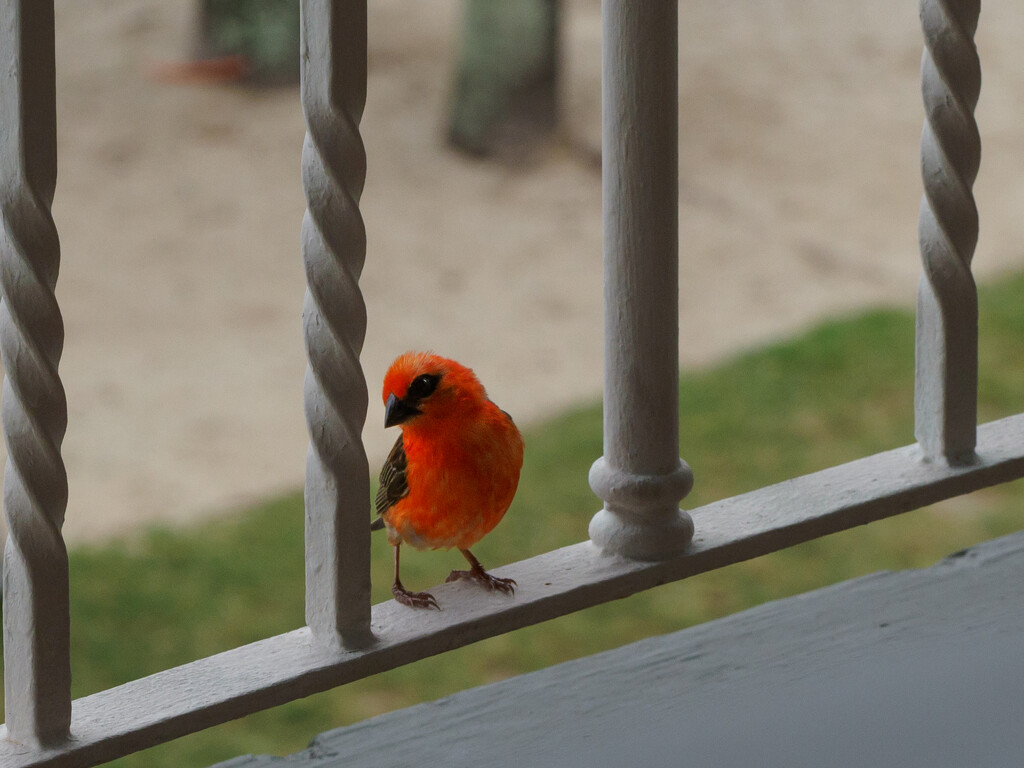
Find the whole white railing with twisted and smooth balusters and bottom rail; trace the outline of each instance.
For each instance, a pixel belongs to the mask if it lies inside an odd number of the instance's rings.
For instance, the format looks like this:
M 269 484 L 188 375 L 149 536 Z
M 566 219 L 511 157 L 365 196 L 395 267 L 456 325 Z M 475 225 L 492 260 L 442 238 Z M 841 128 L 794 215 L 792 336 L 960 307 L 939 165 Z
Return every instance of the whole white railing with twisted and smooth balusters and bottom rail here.
M 922 0 L 927 122 L 919 304 L 918 445 L 692 510 L 678 408 L 677 7 L 604 0 L 604 500 L 589 542 L 499 569 L 495 603 L 466 593 L 443 613 L 370 605 L 369 468 L 358 362 L 366 241 L 366 0 L 303 0 L 308 134 L 302 251 L 311 435 L 306 622 L 294 632 L 71 700 L 68 559 L 60 536 L 67 421 L 49 207 L 56 173 L 52 0 L 0 0 L 0 347 L 4 653 L 0 767 L 88 766 L 485 637 L 1024 476 L 1024 415 L 976 429 L 980 142 L 977 0 Z M 694 532 L 695 529 L 695 532 Z M 691 540 L 692 537 L 692 540 Z M 443 592 L 450 587 L 439 587 Z M 497 607 L 496 607 L 497 605 Z

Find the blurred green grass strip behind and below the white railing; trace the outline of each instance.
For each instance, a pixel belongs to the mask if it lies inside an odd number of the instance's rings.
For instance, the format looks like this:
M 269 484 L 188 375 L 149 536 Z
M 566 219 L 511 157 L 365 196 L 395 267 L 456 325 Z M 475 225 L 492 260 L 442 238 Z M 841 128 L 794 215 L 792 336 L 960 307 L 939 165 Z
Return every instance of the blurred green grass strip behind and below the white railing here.
M 982 290 L 983 421 L 1024 410 L 1022 297 L 1024 276 Z M 910 314 L 873 311 L 685 374 L 680 453 L 696 477 L 685 506 L 912 442 L 912 360 Z M 477 550 L 487 565 L 585 539 L 599 507 L 587 484 L 601 454 L 598 404 L 530 429 L 526 443 L 513 509 Z M 872 570 L 927 565 L 1021 527 L 1024 485 L 989 488 L 477 643 L 117 765 L 181 768 L 293 752 L 328 728 Z M 302 539 L 301 498 L 292 495 L 195 528 L 72 552 L 75 696 L 300 626 Z M 458 553 L 411 551 L 402 575 L 426 588 L 459 561 Z M 390 562 L 375 537 L 375 602 L 390 597 Z

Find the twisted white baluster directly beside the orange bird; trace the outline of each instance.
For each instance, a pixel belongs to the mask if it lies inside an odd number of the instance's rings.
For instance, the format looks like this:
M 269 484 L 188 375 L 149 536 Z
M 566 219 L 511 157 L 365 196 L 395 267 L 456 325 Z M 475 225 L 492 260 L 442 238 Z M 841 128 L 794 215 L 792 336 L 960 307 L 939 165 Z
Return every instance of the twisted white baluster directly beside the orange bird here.
M 302 35 L 306 623 L 321 639 L 353 647 L 370 639 L 368 395 L 359 365 L 367 310 L 358 287 L 367 250 L 358 209 L 366 0 L 303 0 Z

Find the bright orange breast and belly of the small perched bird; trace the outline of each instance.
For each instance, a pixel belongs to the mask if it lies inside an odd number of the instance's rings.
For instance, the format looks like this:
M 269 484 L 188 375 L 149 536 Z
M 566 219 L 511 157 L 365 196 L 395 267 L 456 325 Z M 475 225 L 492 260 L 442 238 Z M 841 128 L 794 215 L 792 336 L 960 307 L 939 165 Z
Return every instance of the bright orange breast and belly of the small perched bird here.
M 523 442 L 494 403 L 473 419 L 403 429 L 409 495 L 386 515 L 388 538 L 417 549 L 469 549 L 505 515 L 522 468 Z

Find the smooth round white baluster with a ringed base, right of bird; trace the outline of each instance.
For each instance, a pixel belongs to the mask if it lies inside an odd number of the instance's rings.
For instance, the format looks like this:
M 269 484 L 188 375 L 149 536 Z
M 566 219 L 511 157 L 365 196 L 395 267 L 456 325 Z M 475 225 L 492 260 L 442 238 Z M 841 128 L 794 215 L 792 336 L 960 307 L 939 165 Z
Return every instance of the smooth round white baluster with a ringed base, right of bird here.
M 678 9 L 604 0 L 604 456 L 590 483 L 603 551 L 685 549 L 693 484 L 679 459 Z

